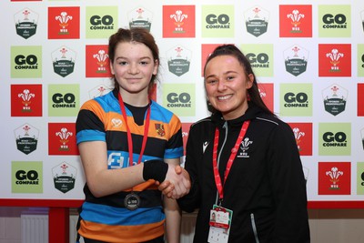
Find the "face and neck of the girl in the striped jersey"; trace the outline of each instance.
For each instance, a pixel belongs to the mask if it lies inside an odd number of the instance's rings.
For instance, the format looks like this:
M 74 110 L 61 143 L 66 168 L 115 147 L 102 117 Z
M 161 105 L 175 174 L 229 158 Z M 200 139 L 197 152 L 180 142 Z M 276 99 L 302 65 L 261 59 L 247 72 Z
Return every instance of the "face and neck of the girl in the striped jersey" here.
M 141 106 L 148 102 L 148 86 L 152 75 L 157 75 L 157 61 L 150 49 L 137 42 L 121 42 L 116 46 L 115 58 L 110 62 L 123 100 L 130 105 Z

